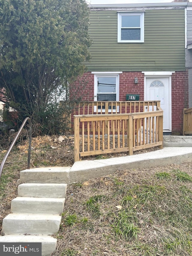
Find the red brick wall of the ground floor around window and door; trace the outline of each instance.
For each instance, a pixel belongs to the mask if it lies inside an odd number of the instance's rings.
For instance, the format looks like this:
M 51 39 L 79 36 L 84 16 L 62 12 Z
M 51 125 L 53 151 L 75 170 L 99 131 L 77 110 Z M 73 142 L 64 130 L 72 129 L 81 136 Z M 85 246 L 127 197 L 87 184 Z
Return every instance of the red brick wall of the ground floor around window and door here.
M 134 77 L 138 83 L 134 83 Z M 87 82 L 84 89 L 81 83 Z M 172 74 L 172 134 L 182 134 L 183 109 L 188 108 L 188 71 L 176 71 Z M 80 81 L 80 84 L 79 84 Z M 75 89 L 76 88 L 76 89 Z M 83 100 L 94 100 L 94 74 L 85 73 L 72 86 L 74 95 L 84 95 Z M 126 94 L 139 94 L 144 100 L 144 74 L 141 72 L 123 72 L 119 75 L 119 101 L 126 100 Z

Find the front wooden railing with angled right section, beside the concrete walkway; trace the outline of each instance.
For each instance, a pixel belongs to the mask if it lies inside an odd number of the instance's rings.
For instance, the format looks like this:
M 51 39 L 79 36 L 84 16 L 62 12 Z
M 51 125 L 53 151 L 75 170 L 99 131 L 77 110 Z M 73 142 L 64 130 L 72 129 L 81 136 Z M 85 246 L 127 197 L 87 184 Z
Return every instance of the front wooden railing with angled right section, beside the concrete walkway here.
M 133 155 L 134 151 L 141 149 L 155 146 L 162 148 L 163 110 L 160 102 L 143 101 L 134 105 L 135 109 L 138 106 L 137 110 L 141 109 L 141 105 L 145 110 L 144 107 L 149 107 L 150 104 L 155 105 L 156 110 L 74 115 L 74 161 L 79 161 L 80 157 L 87 155 L 125 151 Z

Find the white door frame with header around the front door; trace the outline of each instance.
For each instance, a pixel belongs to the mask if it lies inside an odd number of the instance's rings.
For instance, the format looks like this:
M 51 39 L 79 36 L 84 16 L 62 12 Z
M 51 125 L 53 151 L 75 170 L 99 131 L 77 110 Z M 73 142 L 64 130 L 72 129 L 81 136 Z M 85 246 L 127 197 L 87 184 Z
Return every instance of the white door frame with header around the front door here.
M 163 130 L 163 132 L 171 132 L 172 130 L 172 104 L 171 104 L 171 75 L 175 73 L 175 71 L 143 71 L 144 73 L 144 101 L 146 101 L 146 78 L 158 78 L 158 77 L 166 77 L 169 78 L 169 130 Z

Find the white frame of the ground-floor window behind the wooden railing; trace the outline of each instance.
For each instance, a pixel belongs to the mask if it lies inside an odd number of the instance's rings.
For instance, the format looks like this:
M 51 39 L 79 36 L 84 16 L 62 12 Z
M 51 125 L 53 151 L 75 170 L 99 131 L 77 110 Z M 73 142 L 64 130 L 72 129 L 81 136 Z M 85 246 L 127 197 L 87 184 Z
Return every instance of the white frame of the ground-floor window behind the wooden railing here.
M 116 101 L 119 101 L 119 74 L 122 72 L 100 72 L 94 74 L 94 101 L 97 101 L 97 94 L 98 94 L 98 77 L 116 77 Z M 109 93 L 107 93 L 109 94 Z M 96 112 L 96 106 L 94 106 L 94 112 Z M 100 109 L 98 109 L 98 112 L 101 112 Z M 102 109 L 102 113 L 105 112 L 105 109 Z M 108 110 L 108 112 L 111 112 L 111 109 Z M 113 109 L 113 112 L 116 112 L 115 109 Z M 119 107 L 117 107 L 117 112 L 119 112 Z

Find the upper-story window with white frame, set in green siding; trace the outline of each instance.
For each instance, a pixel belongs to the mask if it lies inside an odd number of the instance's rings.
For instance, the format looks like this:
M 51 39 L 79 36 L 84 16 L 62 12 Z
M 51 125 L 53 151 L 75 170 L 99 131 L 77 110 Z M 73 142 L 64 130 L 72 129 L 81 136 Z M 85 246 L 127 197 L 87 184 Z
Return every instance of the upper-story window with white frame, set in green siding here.
M 118 43 L 144 42 L 144 12 L 118 12 Z

